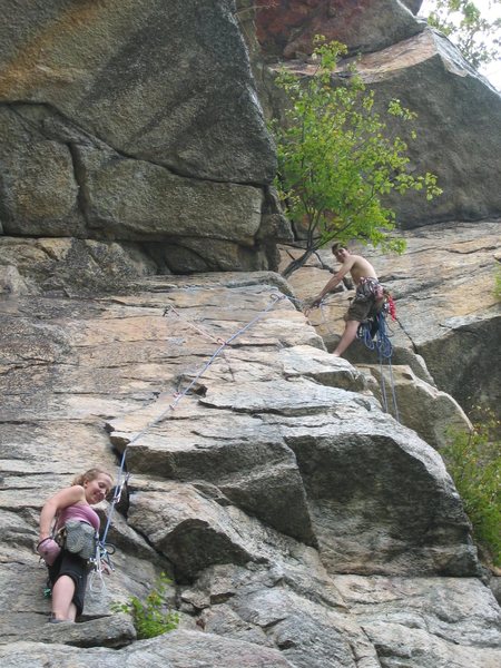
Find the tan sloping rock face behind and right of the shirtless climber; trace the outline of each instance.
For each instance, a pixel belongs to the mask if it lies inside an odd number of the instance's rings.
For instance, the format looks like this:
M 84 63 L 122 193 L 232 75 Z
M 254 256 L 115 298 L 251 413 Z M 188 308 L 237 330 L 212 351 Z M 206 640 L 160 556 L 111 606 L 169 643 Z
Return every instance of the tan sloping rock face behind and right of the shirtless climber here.
M 484 222 L 481 229 L 475 224 L 456 223 L 407 232 L 403 235 L 407 249 L 402 256 L 352 248 L 371 259 L 396 299 L 397 322 L 390 323 L 392 362 L 411 365 L 413 374 L 451 394 L 466 413 L 478 403 L 491 405 L 495 413 L 500 406 L 501 310 L 493 292 L 501 253 L 500 223 Z M 322 250 L 320 257 L 324 266 L 334 266 L 330 250 Z M 298 297 L 306 298 L 317 294 L 328 278 L 328 272 L 321 269 L 315 261 L 293 274 L 291 284 Z M 311 314 L 330 350 L 335 347 L 342 332 L 348 296 L 353 293 L 346 289 L 333 294 L 322 311 Z M 377 363 L 377 354 L 360 342 L 351 346 L 346 357 L 357 364 Z M 396 390 L 402 392 L 402 403 L 409 404 L 404 385 L 397 382 Z M 434 404 L 433 412 L 442 420 L 438 396 L 431 400 L 423 394 L 423 400 Z M 442 409 L 449 420 L 453 412 L 450 401 L 445 400 Z M 412 406 L 407 412 L 411 416 Z M 458 415 L 458 419 L 464 418 Z M 413 421 L 407 424 L 415 429 L 418 420 L 419 411 L 414 410 Z M 434 442 L 430 432 L 420 433 Z

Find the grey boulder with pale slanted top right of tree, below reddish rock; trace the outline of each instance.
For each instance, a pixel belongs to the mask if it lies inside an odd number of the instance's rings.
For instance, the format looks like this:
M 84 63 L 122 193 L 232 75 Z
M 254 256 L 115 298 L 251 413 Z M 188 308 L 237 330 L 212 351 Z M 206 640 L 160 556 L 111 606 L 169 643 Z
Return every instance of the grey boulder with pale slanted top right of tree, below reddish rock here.
M 345 68 L 340 62 L 333 85 L 342 85 Z M 312 76 L 315 65 L 294 60 L 273 65 L 298 76 Z M 411 174 L 431 171 L 443 194 L 428 202 L 423 191 L 392 193 L 383 203 L 396 214 L 400 228 L 414 228 L 445 220 L 479 220 L 501 214 L 498 174 L 492 169 L 501 151 L 501 96 L 441 33 L 421 31 L 392 46 L 356 59 L 356 69 L 367 89 L 375 91 L 375 108 L 389 135 L 407 144 Z M 271 91 L 269 106 L 279 115 L 282 92 Z M 440 90 L 440 95 L 438 95 Z M 416 114 L 409 125 L 390 116 L 390 100 L 397 99 Z M 411 138 L 411 129 L 415 138 Z

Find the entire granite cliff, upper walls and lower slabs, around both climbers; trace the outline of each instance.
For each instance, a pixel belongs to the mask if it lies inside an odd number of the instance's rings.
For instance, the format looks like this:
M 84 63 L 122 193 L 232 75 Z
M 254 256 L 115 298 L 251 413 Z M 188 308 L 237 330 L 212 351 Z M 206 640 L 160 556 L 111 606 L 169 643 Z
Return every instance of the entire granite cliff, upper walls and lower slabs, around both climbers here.
M 501 102 L 419 6 L 2 3 L 2 666 L 499 666 L 498 578 L 440 449 L 472 402 L 499 405 Z M 372 256 L 397 298 L 400 421 L 362 346 L 327 352 L 345 292 L 327 322 L 298 308 L 328 252 L 291 283 L 269 271 L 294 249 L 262 106 L 318 21 L 422 104 L 415 159 L 448 181 L 436 208 L 402 205 L 404 256 Z M 40 507 L 124 453 L 116 571 L 81 623 L 48 625 Z M 179 628 L 137 641 L 111 603 L 160 571 Z

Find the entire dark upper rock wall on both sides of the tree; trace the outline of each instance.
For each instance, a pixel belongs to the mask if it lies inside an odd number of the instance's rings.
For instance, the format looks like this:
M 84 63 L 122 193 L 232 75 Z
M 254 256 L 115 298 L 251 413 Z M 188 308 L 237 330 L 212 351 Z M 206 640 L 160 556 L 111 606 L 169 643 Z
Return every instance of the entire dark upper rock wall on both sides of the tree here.
M 7 2 L 0 232 L 28 246 L 47 237 L 128 244 L 130 275 L 276 269 L 276 243 L 292 232 L 269 188 L 275 153 L 245 40 L 273 109 L 263 60 L 308 55 L 318 31 L 363 53 L 361 72 L 382 105 L 397 97 L 419 114 L 411 168 L 436 173 L 444 195 L 389 200 L 400 226 L 499 216 L 490 165 L 501 149 L 500 96 L 425 30 L 420 4 Z M 1 252 L 0 263 L 11 267 L 6 289 L 30 283 Z

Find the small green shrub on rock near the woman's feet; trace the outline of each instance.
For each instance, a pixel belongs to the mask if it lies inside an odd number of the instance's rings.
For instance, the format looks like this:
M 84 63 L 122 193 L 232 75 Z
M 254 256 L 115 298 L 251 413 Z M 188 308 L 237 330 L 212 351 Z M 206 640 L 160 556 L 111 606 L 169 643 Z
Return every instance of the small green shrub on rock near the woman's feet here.
M 132 596 L 126 603 L 112 603 L 114 612 L 131 615 L 138 640 L 155 638 L 173 631 L 179 623 L 179 615 L 167 609 L 167 589 L 171 580 L 160 573 L 155 588 L 145 600 Z

